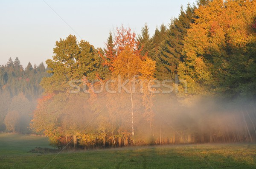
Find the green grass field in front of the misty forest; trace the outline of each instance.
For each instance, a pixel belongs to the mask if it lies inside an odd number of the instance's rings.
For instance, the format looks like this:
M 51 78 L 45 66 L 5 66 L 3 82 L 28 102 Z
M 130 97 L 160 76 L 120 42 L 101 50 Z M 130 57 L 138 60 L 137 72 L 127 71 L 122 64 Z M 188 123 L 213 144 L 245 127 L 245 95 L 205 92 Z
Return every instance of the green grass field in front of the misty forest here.
M 256 169 L 256 144 L 124 147 L 59 155 L 29 152 L 38 146 L 49 147 L 47 138 L 1 133 L 0 168 Z

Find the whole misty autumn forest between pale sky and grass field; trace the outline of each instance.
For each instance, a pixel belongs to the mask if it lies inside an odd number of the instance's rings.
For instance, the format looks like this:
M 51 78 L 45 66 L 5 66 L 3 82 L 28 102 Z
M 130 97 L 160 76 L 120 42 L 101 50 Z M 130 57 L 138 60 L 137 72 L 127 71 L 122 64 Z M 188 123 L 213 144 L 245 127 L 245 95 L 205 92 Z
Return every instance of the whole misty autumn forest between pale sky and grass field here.
M 0 130 L 58 148 L 256 141 L 256 1 L 198 0 L 169 25 L 69 35 L 52 59 L 0 67 Z

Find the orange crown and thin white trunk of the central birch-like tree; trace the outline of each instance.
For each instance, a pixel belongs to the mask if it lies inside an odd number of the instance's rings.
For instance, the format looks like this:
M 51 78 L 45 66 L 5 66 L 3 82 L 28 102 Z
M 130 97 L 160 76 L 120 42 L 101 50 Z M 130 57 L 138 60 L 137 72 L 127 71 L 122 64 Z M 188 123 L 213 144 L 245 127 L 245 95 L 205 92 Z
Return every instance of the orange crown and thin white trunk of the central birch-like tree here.
M 135 94 L 133 84 L 137 80 L 153 79 L 155 62 L 152 59 L 148 58 L 147 53 L 144 56 L 141 55 L 141 51 L 143 50 L 143 48 L 139 47 L 140 43 L 137 42 L 136 35 L 135 33 L 131 32 L 131 28 L 124 28 L 123 26 L 121 28 L 116 28 L 116 39 L 114 44 L 116 55 L 112 56 L 109 60 L 105 59 L 104 56 L 102 56 L 102 58 L 105 60 L 105 62 L 107 62 L 106 65 L 109 65 L 109 68 L 112 71 L 112 77 L 114 79 L 119 78 L 118 82 L 127 82 L 128 84 L 128 88 L 127 90 L 125 90 L 125 92 L 130 95 L 129 110 L 131 112 L 131 139 L 132 144 L 134 144 L 134 113 L 135 107 L 138 108 L 139 106 L 134 105 Z M 121 92 L 120 89 L 119 92 Z M 121 95 L 120 97 L 123 97 L 123 95 Z M 124 98 L 128 99 L 125 96 Z M 150 109 L 150 107 L 146 108 Z M 122 128 L 121 130 L 121 132 L 125 133 Z

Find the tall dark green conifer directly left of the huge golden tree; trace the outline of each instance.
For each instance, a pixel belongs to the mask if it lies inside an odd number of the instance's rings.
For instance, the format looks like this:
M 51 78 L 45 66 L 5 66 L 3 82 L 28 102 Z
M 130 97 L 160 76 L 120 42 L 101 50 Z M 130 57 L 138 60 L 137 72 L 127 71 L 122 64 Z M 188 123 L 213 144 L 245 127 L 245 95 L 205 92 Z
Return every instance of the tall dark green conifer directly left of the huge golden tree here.
M 193 22 L 193 11 L 194 8 L 189 4 L 186 11 L 183 11 L 181 7 L 179 17 L 173 19 L 169 25 L 168 34 L 161 44 L 157 57 L 157 79 L 174 79 L 177 74 L 177 65 L 182 61 L 183 40 L 186 37 L 187 29 L 190 28 L 190 23 Z

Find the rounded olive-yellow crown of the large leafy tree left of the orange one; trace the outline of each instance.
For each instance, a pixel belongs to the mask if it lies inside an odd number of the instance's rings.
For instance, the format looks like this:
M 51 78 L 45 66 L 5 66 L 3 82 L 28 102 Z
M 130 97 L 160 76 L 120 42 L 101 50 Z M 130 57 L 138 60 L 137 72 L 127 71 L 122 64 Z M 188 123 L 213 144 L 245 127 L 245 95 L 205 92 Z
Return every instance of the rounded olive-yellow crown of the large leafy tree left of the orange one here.
M 102 74 L 97 71 L 102 66 L 100 57 L 89 42 L 81 40 L 78 43 L 75 36 L 69 35 L 66 39 L 57 41 L 53 51 L 53 59 L 46 61 L 48 73 L 52 76 L 43 78 L 41 82 L 47 93 L 66 92 L 70 89 L 70 80 L 84 77 L 93 80 Z

